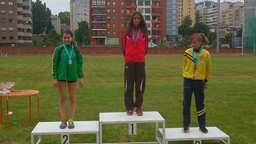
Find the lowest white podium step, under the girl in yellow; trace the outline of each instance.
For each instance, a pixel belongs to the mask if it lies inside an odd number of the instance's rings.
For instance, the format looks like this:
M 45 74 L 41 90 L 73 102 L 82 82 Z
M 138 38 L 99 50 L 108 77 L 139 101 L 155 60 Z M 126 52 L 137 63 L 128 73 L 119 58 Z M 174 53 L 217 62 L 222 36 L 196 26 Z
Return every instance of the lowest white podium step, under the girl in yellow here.
M 199 127 L 191 127 L 189 133 L 182 132 L 182 128 L 166 128 L 165 139 L 166 142 L 170 141 L 195 141 L 195 140 L 227 140 L 229 143 L 230 137 L 217 127 L 206 127 L 208 129 L 207 134 L 203 134 Z M 163 134 L 163 130 L 159 129 L 160 134 Z M 167 144 L 166 143 L 166 144 Z

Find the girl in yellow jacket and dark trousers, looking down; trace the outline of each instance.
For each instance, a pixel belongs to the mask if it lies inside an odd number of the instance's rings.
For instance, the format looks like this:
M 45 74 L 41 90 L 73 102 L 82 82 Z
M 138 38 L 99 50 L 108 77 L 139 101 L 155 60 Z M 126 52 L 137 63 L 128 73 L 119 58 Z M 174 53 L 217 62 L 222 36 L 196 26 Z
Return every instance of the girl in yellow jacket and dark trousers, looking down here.
M 199 130 L 208 133 L 205 128 L 205 104 L 204 88 L 211 76 L 211 57 L 207 50 L 201 47 L 202 43 L 208 43 L 205 34 L 195 33 L 191 35 L 192 48 L 187 49 L 183 55 L 183 132 L 189 132 L 190 106 L 192 93 L 195 95 L 195 104 L 198 115 Z

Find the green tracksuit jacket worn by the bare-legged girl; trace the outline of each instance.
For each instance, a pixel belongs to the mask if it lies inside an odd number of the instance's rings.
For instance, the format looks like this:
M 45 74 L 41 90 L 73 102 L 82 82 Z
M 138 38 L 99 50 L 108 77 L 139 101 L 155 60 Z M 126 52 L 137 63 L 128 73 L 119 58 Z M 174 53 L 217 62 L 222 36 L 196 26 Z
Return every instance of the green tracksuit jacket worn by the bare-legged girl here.
M 67 45 L 69 53 L 71 53 L 72 46 Z M 72 64 L 68 64 L 68 56 L 63 45 L 56 47 L 52 58 L 52 71 L 53 77 L 60 81 L 77 81 L 83 77 L 83 56 L 79 50 L 79 56 L 74 50 L 72 54 Z

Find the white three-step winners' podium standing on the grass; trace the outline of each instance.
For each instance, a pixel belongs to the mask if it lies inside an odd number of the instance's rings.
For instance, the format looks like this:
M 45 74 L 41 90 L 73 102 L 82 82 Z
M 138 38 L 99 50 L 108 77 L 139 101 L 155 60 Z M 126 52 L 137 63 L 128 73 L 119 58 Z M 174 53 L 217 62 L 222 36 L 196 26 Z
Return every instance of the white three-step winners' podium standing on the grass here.
M 102 125 L 105 124 L 129 124 L 129 135 L 137 134 L 138 123 L 154 123 L 155 139 L 152 142 L 129 142 L 129 143 L 104 143 L 104 144 L 169 144 L 184 143 L 190 141 L 194 144 L 205 142 L 220 142 L 230 144 L 230 137 L 217 127 L 207 127 L 209 132 L 203 134 L 198 127 L 190 128 L 189 133 L 183 133 L 182 128 L 165 128 L 165 119 L 158 111 L 144 112 L 142 116 L 135 113 L 126 115 L 125 112 L 99 113 L 99 121 L 75 121 L 74 129 L 60 129 L 61 122 L 39 122 L 31 132 L 31 144 L 34 136 L 38 135 L 36 144 L 42 143 L 42 135 L 61 135 L 61 144 L 70 144 L 70 134 L 96 134 L 96 143 L 102 144 Z M 159 128 L 159 123 L 162 128 Z

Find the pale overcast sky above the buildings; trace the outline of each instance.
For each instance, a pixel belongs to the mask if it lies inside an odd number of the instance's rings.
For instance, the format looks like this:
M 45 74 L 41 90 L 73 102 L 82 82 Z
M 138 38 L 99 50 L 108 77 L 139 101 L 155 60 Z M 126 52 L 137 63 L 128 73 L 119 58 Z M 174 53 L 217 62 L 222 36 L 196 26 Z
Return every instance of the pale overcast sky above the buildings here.
M 33 0 L 36 1 L 36 0 Z M 64 12 L 64 11 L 70 11 L 69 8 L 69 2 L 70 0 L 41 0 L 43 3 L 46 3 L 47 7 L 51 9 L 51 13 L 52 14 L 57 14 L 59 12 Z M 195 2 L 200 2 L 200 1 L 205 1 L 205 0 L 195 0 Z M 216 1 L 217 0 L 213 0 Z M 221 2 L 224 0 L 221 0 Z M 225 0 L 225 1 L 232 1 L 232 2 L 237 2 L 237 1 L 241 1 L 243 2 L 243 0 Z

